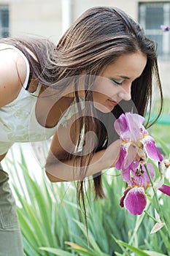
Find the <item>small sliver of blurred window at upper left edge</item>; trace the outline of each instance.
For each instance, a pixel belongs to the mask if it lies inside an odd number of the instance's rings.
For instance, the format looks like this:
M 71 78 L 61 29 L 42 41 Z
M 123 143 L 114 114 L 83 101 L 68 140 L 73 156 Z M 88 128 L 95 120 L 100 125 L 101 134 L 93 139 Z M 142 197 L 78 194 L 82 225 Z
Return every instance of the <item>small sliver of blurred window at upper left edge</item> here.
M 0 37 L 9 37 L 9 7 L 0 5 Z

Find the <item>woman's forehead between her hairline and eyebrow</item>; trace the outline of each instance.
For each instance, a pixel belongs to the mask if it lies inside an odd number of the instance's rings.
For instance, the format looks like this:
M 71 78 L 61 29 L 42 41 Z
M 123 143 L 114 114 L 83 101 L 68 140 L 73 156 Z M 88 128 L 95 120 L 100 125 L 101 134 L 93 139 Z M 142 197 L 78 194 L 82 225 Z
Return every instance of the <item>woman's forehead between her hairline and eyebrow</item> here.
M 106 77 L 125 76 L 131 79 L 142 74 L 147 64 L 147 56 L 143 53 L 128 53 L 118 57 L 113 64 L 109 64 L 102 72 Z

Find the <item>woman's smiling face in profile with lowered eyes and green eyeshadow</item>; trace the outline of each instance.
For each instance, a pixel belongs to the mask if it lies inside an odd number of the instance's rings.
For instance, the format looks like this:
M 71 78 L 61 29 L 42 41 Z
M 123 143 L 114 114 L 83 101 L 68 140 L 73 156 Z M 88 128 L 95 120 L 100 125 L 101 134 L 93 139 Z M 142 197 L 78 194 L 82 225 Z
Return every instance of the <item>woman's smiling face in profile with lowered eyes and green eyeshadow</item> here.
M 108 65 L 96 78 L 93 87 L 95 108 L 108 113 L 122 99 L 131 99 L 131 83 L 142 75 L 147 56 L 143 53 L 129 53 L 120 56 L 114 64 Z

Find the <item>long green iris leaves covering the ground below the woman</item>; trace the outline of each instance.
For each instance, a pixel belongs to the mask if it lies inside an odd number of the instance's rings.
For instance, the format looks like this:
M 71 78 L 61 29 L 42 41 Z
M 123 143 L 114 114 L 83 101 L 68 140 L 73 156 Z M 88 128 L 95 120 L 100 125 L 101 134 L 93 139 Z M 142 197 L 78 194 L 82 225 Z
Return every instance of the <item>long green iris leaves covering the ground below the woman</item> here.
M 106 199 L 94 200 L 90 187 L 87 189 L 87 234 L 82 210 L 77 206 L 74 183 L 50 184 L 43 170 L 34 176 L 28 172 L 22 151 L 20 154 L 19 164 L 14 158 L 6 162 L 9 170 L 14 169 L 10 175 L 18 198 L 18 216 L 27 256 L 130 256 L 132 252 L 169 255 L 170 243 L 164 227 L 150 235 L 154 220 L 145 214 L 132 216 L 120 208 L 125 183 L 116 170 L 103 175 Z M 162 194 L 160 198 L 166 225 L 170 228 L 170 200 Z M 154 216 L 154 201 L 149 201 L 147 211 Z

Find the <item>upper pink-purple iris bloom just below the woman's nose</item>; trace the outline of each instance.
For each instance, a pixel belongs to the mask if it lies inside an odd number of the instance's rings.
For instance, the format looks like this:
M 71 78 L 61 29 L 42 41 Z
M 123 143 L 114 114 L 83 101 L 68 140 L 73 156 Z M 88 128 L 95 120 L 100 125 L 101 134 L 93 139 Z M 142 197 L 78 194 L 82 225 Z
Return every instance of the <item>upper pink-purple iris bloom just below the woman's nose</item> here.
M 143 124 L 144 117 L 136 113 L 122 114 L 115 121 L 115 130 L 122 140 L 120 157 L 115 165 L 118 170 L 126 169 L 136 157 L 143 164 L 147 162 L 148 158 L 158 162 L 163 160 L 155 147 L 155 141 L 150 137 Z

